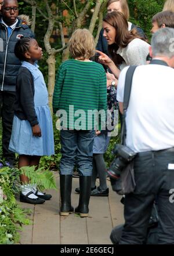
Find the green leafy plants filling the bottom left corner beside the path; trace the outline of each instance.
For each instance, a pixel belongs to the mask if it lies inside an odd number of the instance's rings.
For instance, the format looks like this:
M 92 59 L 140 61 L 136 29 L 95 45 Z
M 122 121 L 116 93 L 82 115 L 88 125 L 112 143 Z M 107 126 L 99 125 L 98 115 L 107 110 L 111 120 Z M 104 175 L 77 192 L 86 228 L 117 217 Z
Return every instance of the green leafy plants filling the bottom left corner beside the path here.
M 14 197 L 14 182 L 18 179 L 10 168 L 0 169 L 0 244 L 12 244 L 19 241 L 22 224 L 30 224 L 26 218 L 28 211 L 17 205 Z

